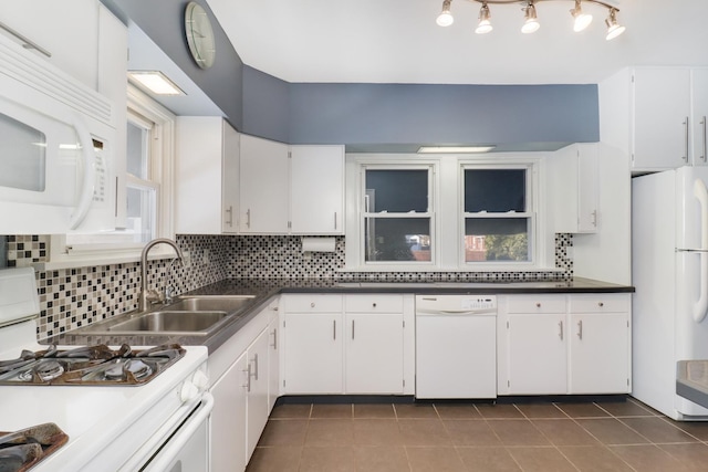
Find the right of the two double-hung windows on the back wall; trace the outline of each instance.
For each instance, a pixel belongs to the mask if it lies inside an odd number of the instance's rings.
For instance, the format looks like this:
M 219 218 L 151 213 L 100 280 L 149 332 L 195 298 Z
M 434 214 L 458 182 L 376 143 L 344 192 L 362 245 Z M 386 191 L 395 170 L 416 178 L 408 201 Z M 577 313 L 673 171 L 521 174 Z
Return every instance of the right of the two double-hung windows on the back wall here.
M 465 263 L 532 261 L 525 167 L 462 166 Z

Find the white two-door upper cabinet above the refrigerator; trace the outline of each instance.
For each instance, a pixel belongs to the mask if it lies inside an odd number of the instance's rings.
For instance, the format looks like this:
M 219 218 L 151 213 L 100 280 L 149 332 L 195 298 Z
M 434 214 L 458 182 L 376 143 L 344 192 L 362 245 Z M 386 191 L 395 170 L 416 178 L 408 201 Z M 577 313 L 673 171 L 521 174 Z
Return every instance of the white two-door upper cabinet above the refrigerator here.
M 632 170 L 706 165 L 705 67 L 631 67 L 598 84 L 601 140 L 626 151 Z

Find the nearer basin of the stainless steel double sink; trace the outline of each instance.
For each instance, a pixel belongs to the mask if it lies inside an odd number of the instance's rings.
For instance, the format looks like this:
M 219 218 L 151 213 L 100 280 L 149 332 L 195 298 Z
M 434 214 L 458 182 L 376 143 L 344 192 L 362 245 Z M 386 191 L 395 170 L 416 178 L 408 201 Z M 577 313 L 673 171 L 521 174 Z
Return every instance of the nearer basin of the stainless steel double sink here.
M 106 327 L 110 333 L 155 332 L 191 333 L 206 332 L 226 318 L 226 312 L 149 312 Z

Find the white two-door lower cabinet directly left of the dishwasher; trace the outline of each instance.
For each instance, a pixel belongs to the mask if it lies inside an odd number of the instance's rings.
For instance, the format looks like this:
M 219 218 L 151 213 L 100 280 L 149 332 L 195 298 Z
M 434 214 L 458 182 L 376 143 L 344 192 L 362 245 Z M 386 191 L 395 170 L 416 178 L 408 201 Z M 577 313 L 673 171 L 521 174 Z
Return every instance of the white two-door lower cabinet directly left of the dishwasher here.
M 283 300 L 285 394 L 413 394 L 413 295 Z

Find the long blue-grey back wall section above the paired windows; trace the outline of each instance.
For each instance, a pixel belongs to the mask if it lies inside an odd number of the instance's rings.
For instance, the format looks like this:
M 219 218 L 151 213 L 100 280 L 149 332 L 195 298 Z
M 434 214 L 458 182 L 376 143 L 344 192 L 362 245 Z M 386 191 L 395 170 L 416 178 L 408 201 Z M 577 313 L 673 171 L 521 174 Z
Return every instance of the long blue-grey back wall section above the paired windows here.
M 292 144 L 520 144 L 598 139 L 596 85 L 298 83 L 290 86 Z

